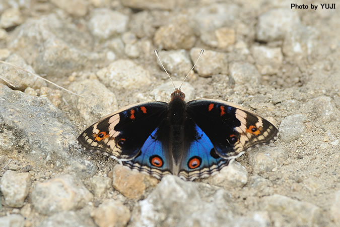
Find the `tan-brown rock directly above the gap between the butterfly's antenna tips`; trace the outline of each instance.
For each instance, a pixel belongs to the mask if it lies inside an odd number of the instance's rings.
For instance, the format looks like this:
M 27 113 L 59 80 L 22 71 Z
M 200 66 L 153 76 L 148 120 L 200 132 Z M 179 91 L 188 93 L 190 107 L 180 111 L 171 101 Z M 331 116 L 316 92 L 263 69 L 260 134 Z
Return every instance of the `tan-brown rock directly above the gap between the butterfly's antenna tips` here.
M 188 18 L 177 17 L 171 24 L 160 27 L 154 36 L 159 49 L 190 49 L 196 42 L 193 29 Z

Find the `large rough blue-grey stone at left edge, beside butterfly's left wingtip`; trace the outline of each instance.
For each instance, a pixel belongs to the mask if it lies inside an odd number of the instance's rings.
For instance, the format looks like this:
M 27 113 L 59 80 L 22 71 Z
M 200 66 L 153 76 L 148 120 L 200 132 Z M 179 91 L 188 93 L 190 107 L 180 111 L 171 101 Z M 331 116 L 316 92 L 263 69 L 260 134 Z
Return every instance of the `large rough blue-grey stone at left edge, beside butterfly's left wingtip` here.
M 70 147 L 75 145 L 78 130 L 46 97 L 2 84 L 0 97 L 0 154 L 24 157 L 38 166 L 64 167 L 75 159 Z

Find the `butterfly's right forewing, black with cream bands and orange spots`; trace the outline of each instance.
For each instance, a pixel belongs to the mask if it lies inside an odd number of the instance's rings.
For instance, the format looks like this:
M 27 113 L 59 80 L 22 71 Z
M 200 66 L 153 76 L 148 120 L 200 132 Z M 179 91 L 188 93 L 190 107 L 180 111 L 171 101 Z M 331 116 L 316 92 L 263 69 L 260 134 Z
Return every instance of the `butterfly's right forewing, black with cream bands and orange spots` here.
M 212 99 L 189 101 L 188 116 L 209 137 L 217 154 L 233 159 L 257 144 L 268 143 L 277 128 L 240 106 Z

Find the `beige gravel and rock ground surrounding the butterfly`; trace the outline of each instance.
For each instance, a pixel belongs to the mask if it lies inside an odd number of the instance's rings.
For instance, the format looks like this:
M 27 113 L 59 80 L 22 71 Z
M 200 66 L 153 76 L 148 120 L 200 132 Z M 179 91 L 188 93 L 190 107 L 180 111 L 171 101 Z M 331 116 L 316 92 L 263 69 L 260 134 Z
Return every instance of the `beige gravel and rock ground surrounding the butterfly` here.
M 307 2 L 1 1 L 0 226 L 340 226 L 340 6 Z M 154 49 L 177 84 L 201 48 L 186 100 L 242 105 L 274 143 L 194 182 L 77 144 L 118 108 L 169 101 Z

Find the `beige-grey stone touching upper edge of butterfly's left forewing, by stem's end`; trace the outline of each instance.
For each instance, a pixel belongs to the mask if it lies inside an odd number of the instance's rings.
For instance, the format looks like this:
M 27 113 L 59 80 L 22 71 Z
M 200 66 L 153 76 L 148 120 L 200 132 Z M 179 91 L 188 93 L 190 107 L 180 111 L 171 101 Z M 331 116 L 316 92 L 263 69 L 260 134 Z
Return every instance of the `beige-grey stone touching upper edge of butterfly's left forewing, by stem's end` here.
M 69 86 L 69 89 L 83 96 L 71 95 L 70 102 L 77 108 L 87 126 L 118 108 L 114 93 L 98 80 L 76 81 Z

